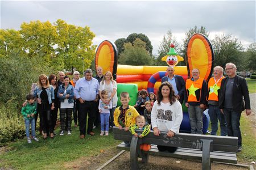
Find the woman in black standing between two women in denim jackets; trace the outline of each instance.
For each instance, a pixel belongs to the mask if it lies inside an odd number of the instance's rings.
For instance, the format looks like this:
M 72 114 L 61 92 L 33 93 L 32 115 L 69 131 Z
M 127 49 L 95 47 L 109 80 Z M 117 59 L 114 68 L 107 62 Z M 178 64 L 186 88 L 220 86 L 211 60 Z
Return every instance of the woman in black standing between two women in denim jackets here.
M 49 83 L 52 85 L 53 89 L 54 89 L 54 109 L 51 111 L 51 118 L 52 118 L 52 129 L 53 129 L 53 134 L 56 135 L 54 133 L 54 128 L 56 125 L 56 121 L 57 121 L 57 114 L 58 114 L 58 109 L 59 109 L 59 98 L 57 98 L 57 92 L 59 90 L 58 84 L 57 84 L 57 76 L 54 74 L 49 75 Z

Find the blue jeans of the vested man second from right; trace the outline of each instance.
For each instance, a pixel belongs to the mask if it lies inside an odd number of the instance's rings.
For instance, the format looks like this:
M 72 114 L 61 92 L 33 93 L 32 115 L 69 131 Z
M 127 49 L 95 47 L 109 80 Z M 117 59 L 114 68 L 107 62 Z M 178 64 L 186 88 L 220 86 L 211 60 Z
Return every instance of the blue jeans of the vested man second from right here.
M 217 105 L 209 105 L 208 110 L 210 116 L 210 124 L 212 125 L 211 135 L 216 135 L 218 131 L 218 121 L 220 121 L 221 136 L 228 134 L 228 129 L 226 126 L 226 121 L 224 114 L 220 112 L 220 108 Z

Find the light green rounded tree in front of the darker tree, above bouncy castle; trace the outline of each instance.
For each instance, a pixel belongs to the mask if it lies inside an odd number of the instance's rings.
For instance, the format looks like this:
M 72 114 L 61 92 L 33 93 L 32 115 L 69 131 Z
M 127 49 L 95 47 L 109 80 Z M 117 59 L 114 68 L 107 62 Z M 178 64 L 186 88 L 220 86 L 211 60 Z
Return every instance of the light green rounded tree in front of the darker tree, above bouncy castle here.
M 125 43 L 124 49 L 119 57 L 119 63 L 134 66 L 151 65 L 153 57 L 146 50 L 146 42 L 141 39 L 135 39 L 133 44 Z

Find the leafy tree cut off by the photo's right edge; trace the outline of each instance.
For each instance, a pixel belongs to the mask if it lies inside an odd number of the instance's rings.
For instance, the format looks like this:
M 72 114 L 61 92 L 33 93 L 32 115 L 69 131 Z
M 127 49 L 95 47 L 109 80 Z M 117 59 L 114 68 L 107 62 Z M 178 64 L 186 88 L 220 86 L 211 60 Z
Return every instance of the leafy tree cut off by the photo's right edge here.
M 251 43 L 245 53 L 246 57 L 246 70 L 256 71 L 256 43 Z

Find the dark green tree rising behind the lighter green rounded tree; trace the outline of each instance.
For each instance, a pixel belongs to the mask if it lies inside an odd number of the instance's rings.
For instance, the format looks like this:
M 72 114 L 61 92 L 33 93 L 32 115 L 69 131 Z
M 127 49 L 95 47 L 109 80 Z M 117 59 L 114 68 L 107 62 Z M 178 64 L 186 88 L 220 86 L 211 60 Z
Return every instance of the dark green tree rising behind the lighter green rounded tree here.
M 148 37 L 146 35 L 144 35 L 143 33 L 131 33 L 127 38 L 126 38 L 126 42 L 131 42 L 131 44 L 134 43 L 135 39 L 141 39 L 142 41 L 146 42 L 146 50 L 148 51 L 148 53 L 152 54 L 152 49 L 153 46 L 151 45 L 151 41 L 148 39 Z

